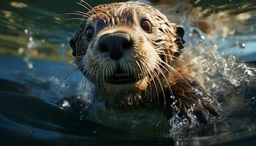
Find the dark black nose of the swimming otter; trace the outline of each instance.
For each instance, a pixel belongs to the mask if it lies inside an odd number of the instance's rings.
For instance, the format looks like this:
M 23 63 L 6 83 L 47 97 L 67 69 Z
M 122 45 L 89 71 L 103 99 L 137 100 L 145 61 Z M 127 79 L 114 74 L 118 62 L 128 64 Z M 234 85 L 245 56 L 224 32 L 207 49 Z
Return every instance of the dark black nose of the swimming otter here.
M 108 52 L 110 58 L 118 60 L 124 55 L 124 50 L 131 48 L 129 34 L 114 33 L 108 34 L 99 39 L 99 49 Z

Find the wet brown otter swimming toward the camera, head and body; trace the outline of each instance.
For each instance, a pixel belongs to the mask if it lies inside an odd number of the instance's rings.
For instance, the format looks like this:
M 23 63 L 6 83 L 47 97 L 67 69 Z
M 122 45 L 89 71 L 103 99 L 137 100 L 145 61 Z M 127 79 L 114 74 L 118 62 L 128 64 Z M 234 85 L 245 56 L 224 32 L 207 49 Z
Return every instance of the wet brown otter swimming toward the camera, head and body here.
M 79 14 L 83 18 L 69 42 L 72 55 L 108 107 L 157 108 L 171 118 L 174 104 L 180 117 L 188 118 L 192 108 L 203 124 L 222 115 L 203 79 L 180 58 L 185 43 L 182 26 L 134 1 L 102 4 Z

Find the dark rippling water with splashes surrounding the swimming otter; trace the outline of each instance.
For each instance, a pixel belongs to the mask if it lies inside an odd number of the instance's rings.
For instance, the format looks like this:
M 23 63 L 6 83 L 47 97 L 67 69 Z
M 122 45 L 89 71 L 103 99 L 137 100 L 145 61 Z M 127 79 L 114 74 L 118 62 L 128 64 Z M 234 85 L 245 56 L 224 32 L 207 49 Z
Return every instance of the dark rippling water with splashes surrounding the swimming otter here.
M 60 14 L 83 7 L 71 0 L 3 0 L 0 145 L 255 145 L 255 1 L 159 1 L 154 6 L 186 28 L 186 52 L 202 64 L 208 91 L 222 103 L 221 120 L 176 132 L 182 126 L 170 126 L 157 113 L 134 116 L 106 111 L 101 103 L 90 107 L 89 116 L 59 108 L 60 99 L 80 93 L 83 80 L 70 65 L 68 46 L 78 21 L 63 21 L 67 16 Z

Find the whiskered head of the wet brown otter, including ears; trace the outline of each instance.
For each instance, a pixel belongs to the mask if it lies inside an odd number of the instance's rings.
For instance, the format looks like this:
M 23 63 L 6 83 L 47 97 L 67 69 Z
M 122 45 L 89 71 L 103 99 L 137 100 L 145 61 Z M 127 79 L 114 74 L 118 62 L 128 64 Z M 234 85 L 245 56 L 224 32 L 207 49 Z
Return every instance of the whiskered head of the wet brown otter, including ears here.
M 73 55 L 87 79 L 113 96 L 161 82 L 183 48 L 184 29 L 147 4 L 103 4 L 83 19 L 70 40 Z

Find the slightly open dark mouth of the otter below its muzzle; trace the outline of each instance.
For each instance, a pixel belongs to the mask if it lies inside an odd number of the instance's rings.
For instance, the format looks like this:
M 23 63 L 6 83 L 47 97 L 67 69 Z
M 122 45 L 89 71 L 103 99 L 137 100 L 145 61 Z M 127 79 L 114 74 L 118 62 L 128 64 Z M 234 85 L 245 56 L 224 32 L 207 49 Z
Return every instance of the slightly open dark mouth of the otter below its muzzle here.
M 127 72 L 118 69 L 116 74 L 113 74 L 106 82 L 109 82 L 110 84 L 128 84 L 130 82 L 136 82 L 136 79 Z

